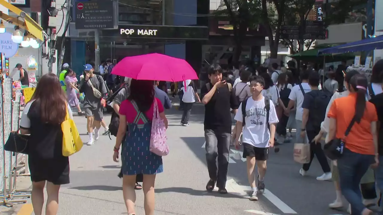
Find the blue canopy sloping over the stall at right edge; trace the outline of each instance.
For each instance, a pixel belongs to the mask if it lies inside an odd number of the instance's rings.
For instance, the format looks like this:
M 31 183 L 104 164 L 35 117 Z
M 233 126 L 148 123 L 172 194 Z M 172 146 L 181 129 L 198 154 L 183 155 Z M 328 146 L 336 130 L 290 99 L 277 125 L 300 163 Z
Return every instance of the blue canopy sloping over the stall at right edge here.
M 340 46 L 334 46 L 319 50 L 319 54 L 336 54 L 345 52 L 361 52 L 375 49 L 383 49 L 383 35 L 356 42 L 350 42 Z

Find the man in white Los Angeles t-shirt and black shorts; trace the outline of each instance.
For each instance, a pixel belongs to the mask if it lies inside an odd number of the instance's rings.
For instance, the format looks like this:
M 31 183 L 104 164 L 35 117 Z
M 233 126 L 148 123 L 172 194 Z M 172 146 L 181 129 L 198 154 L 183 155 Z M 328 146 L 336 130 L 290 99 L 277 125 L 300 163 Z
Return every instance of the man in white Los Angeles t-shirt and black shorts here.
M 252 190 L 250 195 L 252 201 L 258 200 L 258 191 L 264 192 L 265 190 L 264 178 L 267 169 L 268 149 L 274 147 L 275 128 L 278 123 L 273 102 L 262 96 L 264 85 L 265 80 L 260 76 L 250 81 L 252 97 L 241 103 L 234 117 L 237 121 L 236 134 L 240 134 L 243 130 L 243 158 L 246 158 L 247 162 L 247 177 Z M 245 114 L 242 113 L 242 105 L 245 106 Z M 238 135 L 235 142 L 236 148 L 239 148 L 240 145 L 239 138 Z M 257 186 L 255 186 L 255 163 L 258 167 Z

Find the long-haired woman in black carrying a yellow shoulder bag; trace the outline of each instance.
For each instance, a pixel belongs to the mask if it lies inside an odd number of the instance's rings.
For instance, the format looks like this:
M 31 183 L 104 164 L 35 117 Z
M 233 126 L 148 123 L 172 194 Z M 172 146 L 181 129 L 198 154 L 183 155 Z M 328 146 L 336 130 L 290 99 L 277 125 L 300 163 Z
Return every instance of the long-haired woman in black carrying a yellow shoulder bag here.
M 61 130 L 67 114 L 72 118 L 59 78 L 52 73 L 43 75 L 20 120 L 21 134 L 30 134 L 28 164 L 36 215 L 43 211 L 45 184 L 47 215 L 56 215 L 60 185 L 69 184 L 69 159 L 62 155 Z

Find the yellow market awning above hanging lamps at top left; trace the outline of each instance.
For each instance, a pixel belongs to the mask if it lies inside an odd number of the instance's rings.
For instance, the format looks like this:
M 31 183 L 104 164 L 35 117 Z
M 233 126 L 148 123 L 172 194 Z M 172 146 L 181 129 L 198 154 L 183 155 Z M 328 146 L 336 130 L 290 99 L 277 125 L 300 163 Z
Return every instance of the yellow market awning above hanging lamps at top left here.
M 11 21 L 16 26 L 19 26 L 20 28 L 23 28 L 26 31 L 28 31 L 29 34 L 32 34 L 37 39 L 44 41 L 43 28 L 38 23 L 36 23 L 36 21 L 34 21 L 28 14 L 26 14 L 19 8 L 13 6 L 12 4 L 8 3 L 8 1 L 0 0 L 0 4 L 8 8 L 8 10 L 12 11 L 13 13 L 16 13 L 16 15 L 22 17 L 25 20 L 25 22 L 21 21 L 18 17 L 12 17 L 2 12 L 0 13 L 0 18 L 8 22 Z

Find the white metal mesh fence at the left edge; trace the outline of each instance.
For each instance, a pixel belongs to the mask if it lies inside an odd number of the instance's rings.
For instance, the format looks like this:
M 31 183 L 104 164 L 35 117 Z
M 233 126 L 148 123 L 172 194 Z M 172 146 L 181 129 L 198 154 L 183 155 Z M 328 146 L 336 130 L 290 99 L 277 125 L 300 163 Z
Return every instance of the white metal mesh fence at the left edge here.
M 10 132 L 18 130 L 21 92 L 16 91 L 12 99 L 12 80 L 3 80 L 0 87 L 0 204 L 12 205 L 13 202 L 26 202 L 30 194 L 16 193 L 17 153 L 4 150 Z

